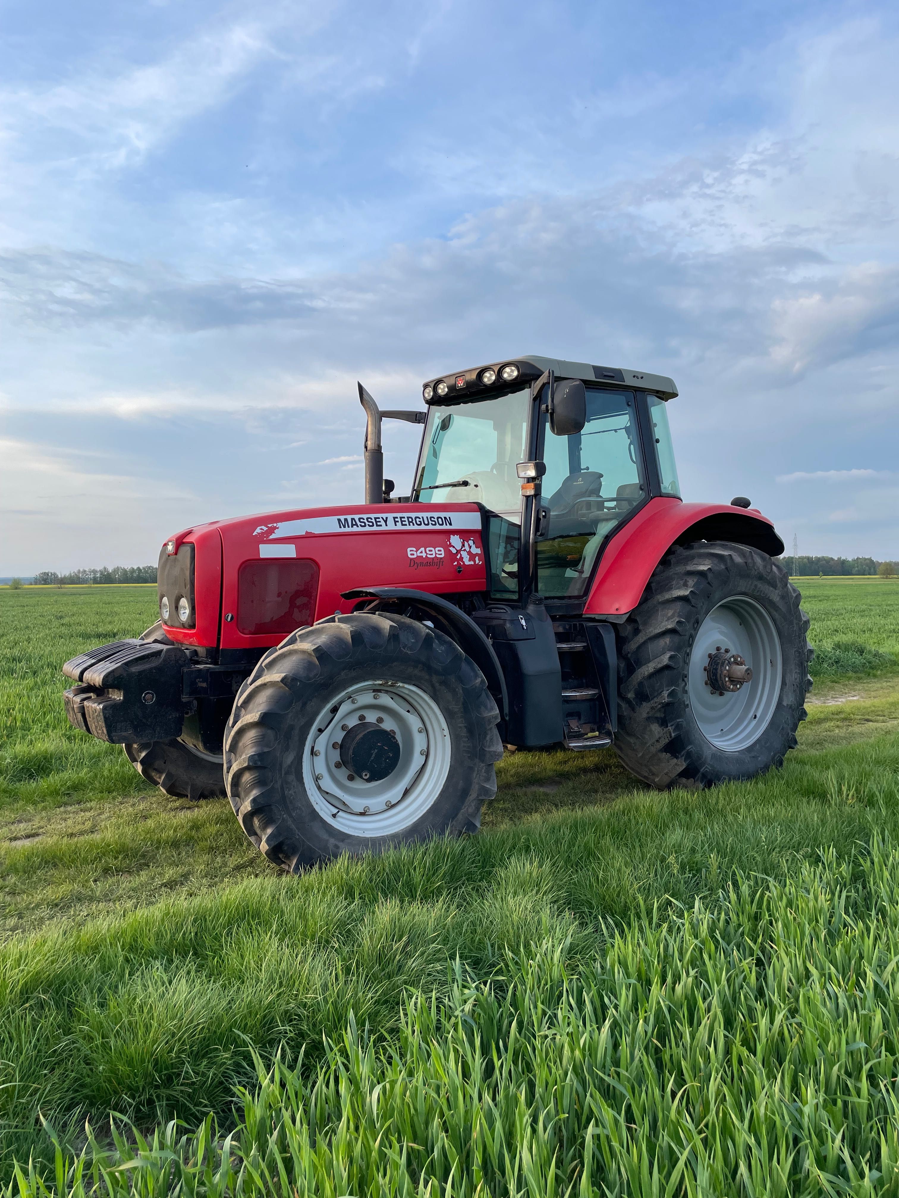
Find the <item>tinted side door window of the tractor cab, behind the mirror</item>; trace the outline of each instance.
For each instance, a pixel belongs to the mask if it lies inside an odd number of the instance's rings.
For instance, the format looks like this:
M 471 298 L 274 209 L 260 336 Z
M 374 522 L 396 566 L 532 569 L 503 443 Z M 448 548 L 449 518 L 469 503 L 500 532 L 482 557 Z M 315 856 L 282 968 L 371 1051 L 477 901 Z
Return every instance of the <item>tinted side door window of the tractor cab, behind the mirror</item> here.
M 602 543 L 646 497 L 634 395 L 587 388 L 581 432 L 545 430 L 543 537 L 537 541 L 538 586 L 544 595 L 586 589 Z

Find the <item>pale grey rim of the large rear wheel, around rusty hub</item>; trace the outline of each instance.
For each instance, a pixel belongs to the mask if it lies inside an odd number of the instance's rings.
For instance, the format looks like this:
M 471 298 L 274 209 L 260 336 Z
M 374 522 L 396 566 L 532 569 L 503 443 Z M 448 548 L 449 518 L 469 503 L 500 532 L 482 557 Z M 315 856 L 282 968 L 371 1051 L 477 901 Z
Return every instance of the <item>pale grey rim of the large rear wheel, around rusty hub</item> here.
M 723 696 L 704 671 L 719 648 L 738 653 L 753 671 L 750 682 Z M 688 673 L 690 708 L 706 740 L 725 752 L 755 744 L 774 714 L 782 677 L 780 637 L 765 609 L 749 595 L 731 595 L 713 607 L 696 633 Z

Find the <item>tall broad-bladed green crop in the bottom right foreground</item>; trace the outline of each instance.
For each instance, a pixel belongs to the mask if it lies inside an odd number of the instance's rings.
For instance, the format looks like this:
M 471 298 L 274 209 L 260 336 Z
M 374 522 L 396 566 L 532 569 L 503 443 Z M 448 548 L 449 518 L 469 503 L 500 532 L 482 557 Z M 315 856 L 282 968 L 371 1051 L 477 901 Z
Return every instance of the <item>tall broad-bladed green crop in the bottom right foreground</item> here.
M 547 928 L 414 994 L 394 1043 L 349 1019 L 313 1069 L 258 1060 L 227 1136 L 120 1124 L 6 1194 L 895 1193 L 898 895 L 875 839 L 592 952 Z

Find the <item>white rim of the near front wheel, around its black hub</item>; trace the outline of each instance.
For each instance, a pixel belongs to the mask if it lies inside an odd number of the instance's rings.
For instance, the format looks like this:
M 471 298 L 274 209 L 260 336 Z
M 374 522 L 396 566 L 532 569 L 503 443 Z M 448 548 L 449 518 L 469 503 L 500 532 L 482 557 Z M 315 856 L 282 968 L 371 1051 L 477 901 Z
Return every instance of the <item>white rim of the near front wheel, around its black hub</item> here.
M 364 719 L 362 719 L 364 716 Z M 374 725 L 396 733 L 399 762 L 366 781 L 340 761 L 346 732 Z M 430 695 L 402 682 L 348 686 L 319 713 L 303 751 L 303 785 L 318 813 L 352 836 L 390 836 L 410 828 L 434 804 L 450 773 L 450 728 Z

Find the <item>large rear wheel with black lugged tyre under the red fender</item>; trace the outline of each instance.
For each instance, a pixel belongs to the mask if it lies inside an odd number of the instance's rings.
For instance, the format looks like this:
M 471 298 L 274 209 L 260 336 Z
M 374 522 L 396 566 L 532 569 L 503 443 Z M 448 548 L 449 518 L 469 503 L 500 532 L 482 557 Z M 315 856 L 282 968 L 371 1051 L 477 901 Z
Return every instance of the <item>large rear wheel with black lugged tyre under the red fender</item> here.
M 783 567 L 759 550 L 674 546 L 621 629 L 615 746 L 622 763 L 659 789 L 782 766 L 811 686 L 809 618 L 800 603 Z M 719 648 L 753 670 L 732 692 L 706 683 L 704 667 Z

